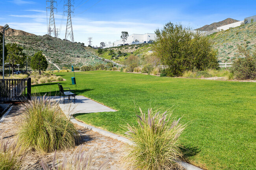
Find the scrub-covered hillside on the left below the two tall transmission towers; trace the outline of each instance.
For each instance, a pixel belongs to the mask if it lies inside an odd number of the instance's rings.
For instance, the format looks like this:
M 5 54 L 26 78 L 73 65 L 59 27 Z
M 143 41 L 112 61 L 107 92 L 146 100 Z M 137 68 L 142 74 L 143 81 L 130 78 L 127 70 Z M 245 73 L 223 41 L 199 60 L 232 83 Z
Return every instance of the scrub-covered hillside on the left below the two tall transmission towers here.
M 49 35 L 20 35 L 6 37 L 6 43 L 16 42 L 22 48 L 26 55 L 33 56 L 37 51 L 43 51 L 43 54 L 49 62 L 48 69 L 57 69 L 52 63 L 59 68 L 83 65 L 95 65 L 103 63 L 95 55 L 95 50 L 85 47 L 80 42 L 64 41 L 60 38 L 50 37 Z M 52 63 L 51 63 L 52 62 Z

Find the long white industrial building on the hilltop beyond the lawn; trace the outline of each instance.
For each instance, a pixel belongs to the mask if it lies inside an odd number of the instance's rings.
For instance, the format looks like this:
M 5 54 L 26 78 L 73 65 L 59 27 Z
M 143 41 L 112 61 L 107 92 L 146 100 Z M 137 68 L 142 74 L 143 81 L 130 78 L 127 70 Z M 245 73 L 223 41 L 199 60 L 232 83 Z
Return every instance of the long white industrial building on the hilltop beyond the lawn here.
M 109 47 L 116 47 L 121 46 L 122 44 L 141 44 L 141 43 L 148 43 L 156 40 L 156 34 L 152 33 L 146 33 L 146 34 L 132 34 L 127 37 L 127 40 L 123 42 L 123 40 L 118 40 L 112 44 L 109 44 L 103 48 L 109 48 Z

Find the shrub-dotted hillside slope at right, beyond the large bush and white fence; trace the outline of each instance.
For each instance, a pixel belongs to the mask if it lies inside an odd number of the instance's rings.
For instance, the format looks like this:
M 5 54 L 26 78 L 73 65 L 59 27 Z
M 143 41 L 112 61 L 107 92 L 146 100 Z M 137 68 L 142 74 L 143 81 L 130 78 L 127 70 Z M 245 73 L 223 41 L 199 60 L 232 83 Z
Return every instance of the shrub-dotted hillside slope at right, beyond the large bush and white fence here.
M 210 38 L 215 42 L 214 48 L 219 51 L 219 62 L 232 62 L 242 57 L 237 51 L 237 45 L 246 45 L 247 49 L 251 50 L 256 49 L 256 22 L 214 33 Z

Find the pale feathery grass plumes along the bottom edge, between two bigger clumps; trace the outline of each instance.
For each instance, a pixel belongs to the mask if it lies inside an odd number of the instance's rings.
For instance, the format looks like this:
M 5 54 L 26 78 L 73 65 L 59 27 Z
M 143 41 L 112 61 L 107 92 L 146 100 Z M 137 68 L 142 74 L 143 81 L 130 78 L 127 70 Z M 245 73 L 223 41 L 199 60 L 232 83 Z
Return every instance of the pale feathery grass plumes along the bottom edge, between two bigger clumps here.
M 91 170 L 95 148 L 93 148 L 88 154 L 85 154 L 85 151 L 82 152 L 82 148 L 83 145 L 81 145 L 78 151 L 77 147 L 72 157 L 69 158 L 67 157 L 67 154 L 63 154 L 64 158 L 61 162 L 56 161 L 57 155 L 55 151 L 52 165 L 49 166 L 47 161 L 42 159 L 41 166 L 43 167 L 43 170 Z M 102 163 L 98 170 L 103 170 L 108 165 L 108 163 L 109 160 Z

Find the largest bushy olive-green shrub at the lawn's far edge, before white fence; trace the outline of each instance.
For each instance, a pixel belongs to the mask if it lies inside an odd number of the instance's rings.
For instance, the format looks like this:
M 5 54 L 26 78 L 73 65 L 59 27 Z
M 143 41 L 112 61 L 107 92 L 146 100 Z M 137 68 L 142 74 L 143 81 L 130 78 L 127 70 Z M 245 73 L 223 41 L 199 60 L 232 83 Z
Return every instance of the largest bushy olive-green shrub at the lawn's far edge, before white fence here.
M 171 22 L 155 33 L 157 40 L 153 48 L 161 62 L 169 66 L 167 75 L 181 76 L 185 70 L 218 68 L 217 51 L 208 37 Z

